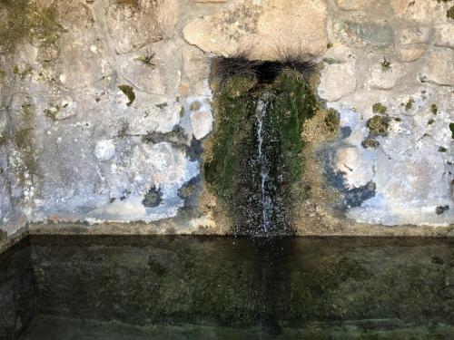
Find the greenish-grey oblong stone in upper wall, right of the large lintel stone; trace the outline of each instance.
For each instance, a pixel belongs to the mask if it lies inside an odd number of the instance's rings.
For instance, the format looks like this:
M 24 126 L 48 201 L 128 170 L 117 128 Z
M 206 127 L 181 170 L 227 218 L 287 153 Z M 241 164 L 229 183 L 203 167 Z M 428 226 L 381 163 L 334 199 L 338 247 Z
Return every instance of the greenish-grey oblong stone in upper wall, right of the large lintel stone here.
M 334 24 L 334 32 L 344 44 L 352 47 L 374 46 L 390 47 L 394 41 L 394 33 L 386 20 L 344 20 Z

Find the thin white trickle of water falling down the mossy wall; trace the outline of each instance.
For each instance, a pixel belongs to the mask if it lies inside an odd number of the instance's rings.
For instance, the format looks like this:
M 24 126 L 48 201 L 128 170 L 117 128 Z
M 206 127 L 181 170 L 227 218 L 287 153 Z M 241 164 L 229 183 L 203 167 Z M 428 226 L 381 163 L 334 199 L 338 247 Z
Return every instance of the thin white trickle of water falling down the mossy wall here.
M 262 231 L 267 233 L 271 224 L 271 214 L 273 209 L 272 199 L 269 191 L 267 190 L 267 181 L 270 166 L 264 153 L 263 147 L 263 119 L 266 115 L 266 98 L 262 98 L 257 102 L 257 141 L 258 141 L 258 161 L 260 167 L 261 177 L 261 203 L 262 203 Z

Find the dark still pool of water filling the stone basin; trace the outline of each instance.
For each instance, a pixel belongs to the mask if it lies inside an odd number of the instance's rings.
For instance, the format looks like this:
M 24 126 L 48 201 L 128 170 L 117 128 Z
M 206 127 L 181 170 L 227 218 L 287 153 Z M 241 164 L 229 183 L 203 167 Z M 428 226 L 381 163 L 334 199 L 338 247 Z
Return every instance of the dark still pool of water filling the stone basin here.
M 0 339 L 454 338 L 454 239 L 33 236 Z

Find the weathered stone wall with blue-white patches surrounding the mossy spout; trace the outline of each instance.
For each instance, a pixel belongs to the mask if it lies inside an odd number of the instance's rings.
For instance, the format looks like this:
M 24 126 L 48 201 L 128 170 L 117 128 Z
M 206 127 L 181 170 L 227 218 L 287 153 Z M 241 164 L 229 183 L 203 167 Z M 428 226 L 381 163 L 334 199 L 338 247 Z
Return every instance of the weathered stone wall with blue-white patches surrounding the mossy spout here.
M 2 2 L 0 232 L 229 232 L 202 173 L 216 124 L 208 78 L 211 56 L 246 49 L 313 55 L 321 106 L 340 115 L 336 139 L 317 139 L 317 117 L 303 134 L 298 233 L 439 232 L 454 223 L 453 6 Z

